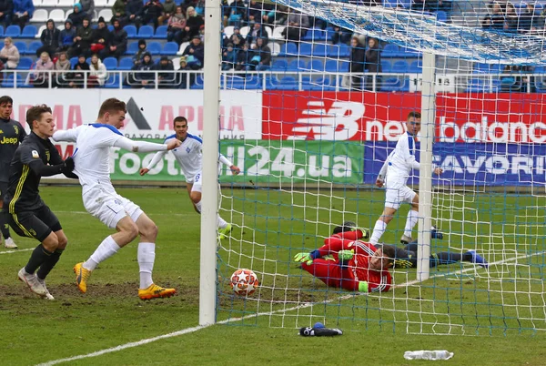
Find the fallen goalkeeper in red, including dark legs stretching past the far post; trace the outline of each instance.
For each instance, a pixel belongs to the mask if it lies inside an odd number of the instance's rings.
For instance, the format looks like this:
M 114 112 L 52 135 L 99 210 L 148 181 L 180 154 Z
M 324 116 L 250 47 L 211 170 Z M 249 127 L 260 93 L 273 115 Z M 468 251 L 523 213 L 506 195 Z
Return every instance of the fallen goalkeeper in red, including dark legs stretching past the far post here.
M 346 222 L 334 229 L 324 245 L 310 253 L 298 253 L 294 260 L 302 263 L 301 268 L 326 283 L 328 286 L 360 292 L 384 292 L 390 289 L 392 278 L 389 268 L 417 267 L 417 242 L 404 249 L 394 245 L 362 241 L 368 238 L 366 229 L 354 229 L 354 223 Z M 325 256 L 332 259 L 323 259 Z M 468 261 L 488 267 L 474 250 L 464 254 L 440 252 L 430 255 L 430 267 Z

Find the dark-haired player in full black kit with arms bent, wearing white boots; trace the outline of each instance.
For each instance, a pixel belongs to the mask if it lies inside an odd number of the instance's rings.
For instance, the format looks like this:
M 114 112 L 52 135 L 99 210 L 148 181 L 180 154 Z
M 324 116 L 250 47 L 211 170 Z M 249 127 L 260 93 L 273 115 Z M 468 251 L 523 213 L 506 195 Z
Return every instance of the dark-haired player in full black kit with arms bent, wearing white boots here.
M 17 234 L 40 241 L 26 266 L 19 270 L 19 280 L 40 297 L 53 300 L 45 287 L 45 277 L 55 267 L 67 239 L 59 220 L 40 198 L 38 186 L 42 177 L 61 173 L 68 178 L 77 177 L 72 173 L 72 158 L 63 161 L 49 140 L 55 128 L 51 108 L 31 107 L 26 112 L 26 123 L 32 132 L 15 150 L 4 211 L 9 213 L 9 225 Z

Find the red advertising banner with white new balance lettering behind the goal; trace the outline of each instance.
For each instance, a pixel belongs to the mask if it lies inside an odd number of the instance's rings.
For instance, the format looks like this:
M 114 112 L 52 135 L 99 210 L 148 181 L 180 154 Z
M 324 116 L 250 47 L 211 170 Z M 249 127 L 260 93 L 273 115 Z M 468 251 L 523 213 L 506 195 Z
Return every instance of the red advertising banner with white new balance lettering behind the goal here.
M 442 94 L 436 137 L 443 142 L 546 142 L 543 94 Z M 262 138 L 397 140 L 420 111 L 419 93 L 263 92 Z

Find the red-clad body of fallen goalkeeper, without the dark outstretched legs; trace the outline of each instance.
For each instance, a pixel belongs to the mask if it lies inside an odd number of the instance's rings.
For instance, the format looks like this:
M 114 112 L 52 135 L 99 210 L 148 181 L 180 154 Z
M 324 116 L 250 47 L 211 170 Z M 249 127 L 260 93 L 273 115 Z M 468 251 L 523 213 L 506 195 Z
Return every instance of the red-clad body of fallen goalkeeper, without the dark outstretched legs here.
M 390 289 L 395 251 L 392 247 L 375 248 L 360 239 L 369 237 L 368 230 L 352 229 L 347 223 L 334 229 L 324 245 L 310 253 L 298 253 L 294 260 L 301 268 L 328 286 L 359 292 L 385 292 Z M 323 257 L 332 255 L 332 259 Z

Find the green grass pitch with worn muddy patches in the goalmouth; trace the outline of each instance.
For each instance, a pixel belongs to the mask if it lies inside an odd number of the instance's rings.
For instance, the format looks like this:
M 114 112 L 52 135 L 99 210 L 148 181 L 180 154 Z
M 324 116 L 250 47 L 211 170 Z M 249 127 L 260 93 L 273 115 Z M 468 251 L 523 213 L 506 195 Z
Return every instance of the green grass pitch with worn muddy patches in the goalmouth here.
M 24 250 L 34 248 L 34 240 L 15 237 L 19 251 L 0 249 L 0 364 L 54 361 L 197 326 L 200 217 L 186 188 L 118 192 L 156 221 L 154 279 L 176 287 L 177 296 L 138 300 L 136 243 L 102 263 L 87 293 L 79 293 L 72 267 L 111 231 L 85 212 L 79 187 L 44 187 L 42 197 L 69 239 L 47 281 L 56 300 L 37 299 L 16 280 L 30 255 Z M 224 188 L 223 194 L 221 213 L 235 229 L 218 250 L 218 320 L 257 310 L 266 314 L 64 364 L 418 365 L 427 361 L 405 361 L 403 353 L 422 349 L 453 351 L 454 359 L 447 362 L 458 365 L 544 363 L 544 198 L 437 196 L 434 216 L 450 236 L 435 240 L 432 250 L 478 249 L 497 264 L 489 273 L 469 265 L 433 269 L 433 278 L 420 285 L 363 297 L 326 289 L 290 259 L 318 247 L 316 234 L 328 236 L 329 223 L 351 219 L 371 227 L 382 208 L 380 191 L 327 189 L 304 195 Z M 386 242 L 397 242 L 406 212 L 400 209 Z M 227 286 L 226 277 L 239 267 L 254 269 L 262 282 L 252 300 L 234 298 Z M 394 277 L 402 284 L 415 280 L 416 272 L 398 270 Z M 292 310 L 304 302 L 314 305 Z M 277 312 L 269 315 L 272 311 Z M 318 320 L 345 334 L 332 339 L 296 334 L 296 327 Z M 440 335 L 445 333 L 452 335 Z

